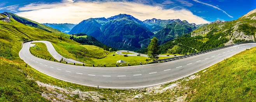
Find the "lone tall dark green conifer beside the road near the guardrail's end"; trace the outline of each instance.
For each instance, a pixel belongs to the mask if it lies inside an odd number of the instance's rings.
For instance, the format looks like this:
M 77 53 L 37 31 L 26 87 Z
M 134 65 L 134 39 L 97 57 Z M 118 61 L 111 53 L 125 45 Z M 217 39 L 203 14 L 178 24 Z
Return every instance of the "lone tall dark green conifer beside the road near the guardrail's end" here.
M 149 56 L 149 58 L 153 61 L 156 61 L 159 57 L 159 46 L 158 46 L 158 39 L 156 37 L 154 37 L 153 39 L 151 39 L 149 46 L 147 47 L 147 55 Z

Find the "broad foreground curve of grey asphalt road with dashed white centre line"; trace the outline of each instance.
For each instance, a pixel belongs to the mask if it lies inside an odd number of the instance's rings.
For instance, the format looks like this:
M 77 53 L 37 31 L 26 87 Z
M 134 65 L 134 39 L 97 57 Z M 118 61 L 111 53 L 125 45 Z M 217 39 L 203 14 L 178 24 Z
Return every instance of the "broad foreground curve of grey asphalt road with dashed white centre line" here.
M 25 43 L 19 56 L 53 78 L 99 88 L 145 88 L 189 76 L 256 44 L 242 44 L 170 62 L 129 67 L 84 67 L 47 61 L 29 52 Z M 49 47 L 48 44 L 46 44 Z

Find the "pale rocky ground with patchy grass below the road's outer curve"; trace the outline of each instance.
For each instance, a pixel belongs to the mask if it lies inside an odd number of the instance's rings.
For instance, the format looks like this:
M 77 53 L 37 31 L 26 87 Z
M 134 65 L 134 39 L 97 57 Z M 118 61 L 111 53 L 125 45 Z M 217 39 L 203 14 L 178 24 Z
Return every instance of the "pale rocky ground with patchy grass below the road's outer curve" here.
M 195 94 L 196 90 L 189 91 L 189 87 L 182 85 L 181 82 L 194 80 L 196 78 L 200 79 L 200 75 L 192 75 L 169 85 L 126 90 L 126 93 L 118 93 L 107 89 L 102 89 L 102 92 L 83 92 L 79 89 L 73 89 L 72 87 L 61 88 L 59 86 L 41 83 L 40 81 L 36 82 L 40 88 L 44 90 L 42 96 L 53 102 L 137 102 L 148 100 L 151 102 L 150 100 L 152 99 L 154 99 L 153 102 L 185 102 L 188 94 Z M 105 93 L 104 91 L 109 92 Z M 168 97 L 164 97 L 163 99 L 159 97 L 159 95 L 161 96 L 166 93 L 168 93 Z

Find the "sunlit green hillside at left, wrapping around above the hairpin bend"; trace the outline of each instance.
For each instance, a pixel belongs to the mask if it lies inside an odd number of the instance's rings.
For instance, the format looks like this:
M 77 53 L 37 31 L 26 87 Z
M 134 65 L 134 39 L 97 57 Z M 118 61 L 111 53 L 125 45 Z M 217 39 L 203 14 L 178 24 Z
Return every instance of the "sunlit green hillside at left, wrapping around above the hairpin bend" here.
M 93 63 L 91 58 L 97 58 L 89 54 L 88 50 L 80 46 L 81 44 L 47 31 L 32 28 L 21 24 L 14 19 L 11 22 L 0 21 L 0 55 L 9 59 L 20 60 L 18 54 L 21 50 L 21 41 L 45 40 L 50 41 L 57 52 L 67 58 L 78 61 Z

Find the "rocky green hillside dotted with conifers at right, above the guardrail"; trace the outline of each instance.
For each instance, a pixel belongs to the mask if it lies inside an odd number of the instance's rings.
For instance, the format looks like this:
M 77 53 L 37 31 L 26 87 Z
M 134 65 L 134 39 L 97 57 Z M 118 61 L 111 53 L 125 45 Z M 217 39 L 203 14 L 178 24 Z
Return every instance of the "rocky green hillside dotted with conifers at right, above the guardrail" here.
M 254 12 L 253 12 L 254 11 Z M 186 35 L 177 36 L 174 40 L 160 45 L 160 53 L 191 54 L 212 48 L 231 45 L 239 41 L 255 41 L 256 10 L 252 10 L 238 20 L 216 22 L 196 29 Z M 147 48 L 137 52 L 145 53 Z

